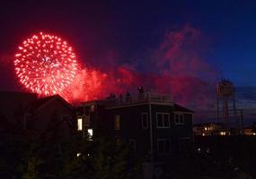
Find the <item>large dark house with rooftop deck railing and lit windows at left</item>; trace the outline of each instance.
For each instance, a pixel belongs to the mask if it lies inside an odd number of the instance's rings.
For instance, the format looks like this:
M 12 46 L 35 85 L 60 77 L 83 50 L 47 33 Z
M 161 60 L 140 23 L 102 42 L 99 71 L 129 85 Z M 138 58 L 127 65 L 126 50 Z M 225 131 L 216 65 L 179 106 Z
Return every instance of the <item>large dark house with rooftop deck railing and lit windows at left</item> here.
M 157 160 L 193 140 L 193 111 L 169 95 L 144 93 L 84 102 L 77 109 L 77 130 L 100 129 L 113 140 L 125 140 L 139 156 Z M 180 145 L 181 144 L 181 145 Z

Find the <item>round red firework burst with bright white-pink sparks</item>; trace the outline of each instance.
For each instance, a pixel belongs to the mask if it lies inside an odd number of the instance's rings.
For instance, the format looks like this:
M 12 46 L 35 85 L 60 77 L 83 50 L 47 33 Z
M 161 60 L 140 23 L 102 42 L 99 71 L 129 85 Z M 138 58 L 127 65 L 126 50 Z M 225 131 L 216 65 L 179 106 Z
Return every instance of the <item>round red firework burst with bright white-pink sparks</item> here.
M 23 41 L 14 66 L 22 84 L 40 95 L 65 91 L 77 71 L 72 47 L 61 38 L 42 32 Z

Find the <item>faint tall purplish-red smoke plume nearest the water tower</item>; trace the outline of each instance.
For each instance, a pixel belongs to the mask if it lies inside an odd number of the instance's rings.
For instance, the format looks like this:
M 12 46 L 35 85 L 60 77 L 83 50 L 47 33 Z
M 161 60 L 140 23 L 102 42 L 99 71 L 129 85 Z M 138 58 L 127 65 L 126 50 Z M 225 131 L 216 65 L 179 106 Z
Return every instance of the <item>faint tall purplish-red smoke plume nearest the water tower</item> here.
M 181 104 L 205 106 L 212 102 L 216 72 L 201 57 L 201 41 L 199 30 L 189 25 L 166 35 L 154 56 L 153 64 L 159 69 L 155 90 L 171 93 Z

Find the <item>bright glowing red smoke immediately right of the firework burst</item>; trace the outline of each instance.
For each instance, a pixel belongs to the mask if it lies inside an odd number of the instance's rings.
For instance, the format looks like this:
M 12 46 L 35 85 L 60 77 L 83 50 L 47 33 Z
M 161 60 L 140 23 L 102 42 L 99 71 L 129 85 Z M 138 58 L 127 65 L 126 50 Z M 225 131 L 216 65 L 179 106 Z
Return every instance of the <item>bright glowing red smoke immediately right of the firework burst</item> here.
M 60 95 L 72 103 L 106 98 L 110 93 L 124 93 L 131 86 L 137 86 L 138 79 L 137 73 L 126 66 L 106 72 L 84 67 L 75 76 L 70 89 Z

